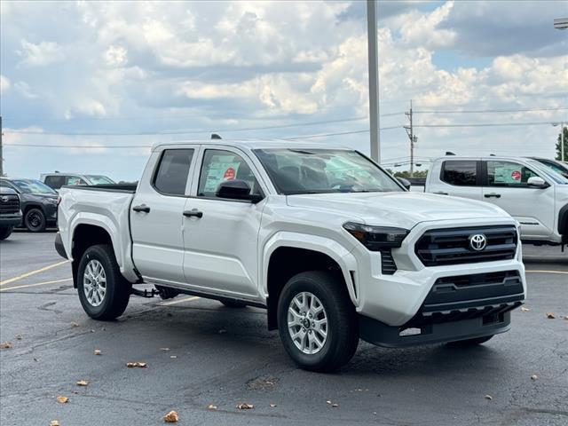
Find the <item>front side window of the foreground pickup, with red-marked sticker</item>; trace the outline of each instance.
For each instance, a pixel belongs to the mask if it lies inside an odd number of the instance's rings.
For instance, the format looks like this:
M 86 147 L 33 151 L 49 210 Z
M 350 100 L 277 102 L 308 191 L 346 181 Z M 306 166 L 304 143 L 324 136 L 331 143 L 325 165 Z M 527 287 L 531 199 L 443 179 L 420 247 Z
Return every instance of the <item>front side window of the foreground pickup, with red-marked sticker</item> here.
M 233 179 L 245 181 L 250 186 L 250 194 L 262 194 L 253 171 L 241 155 L 220 149 L 207 149 L 203 154 L 197 196 L 215 198 L 219 184 Z

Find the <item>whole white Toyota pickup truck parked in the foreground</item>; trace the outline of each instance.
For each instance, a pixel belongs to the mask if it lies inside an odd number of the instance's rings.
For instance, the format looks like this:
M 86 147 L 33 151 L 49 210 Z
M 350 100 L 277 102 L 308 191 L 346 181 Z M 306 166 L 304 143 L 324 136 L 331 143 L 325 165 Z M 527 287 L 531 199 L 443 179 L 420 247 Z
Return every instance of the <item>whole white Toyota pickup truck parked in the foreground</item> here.
M 64 186 L 60 197 L 55 246 L 89 316 L 120 316 L 142 283 L 262 307 L 307 369 L 341 367 L 359 337 L 484 343 L 525 299 L 514 219 L 409 193 L 349 148 L 164 143 L 138 187 Z

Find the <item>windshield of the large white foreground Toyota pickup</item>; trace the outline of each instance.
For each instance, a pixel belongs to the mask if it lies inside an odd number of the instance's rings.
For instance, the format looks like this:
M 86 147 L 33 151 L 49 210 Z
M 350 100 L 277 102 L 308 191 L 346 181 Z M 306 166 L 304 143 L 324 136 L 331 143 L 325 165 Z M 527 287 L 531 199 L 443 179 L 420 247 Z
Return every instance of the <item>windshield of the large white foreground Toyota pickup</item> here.
M 404 191 L 357 151 L 255 149 L 279 193 L 370 193 Z

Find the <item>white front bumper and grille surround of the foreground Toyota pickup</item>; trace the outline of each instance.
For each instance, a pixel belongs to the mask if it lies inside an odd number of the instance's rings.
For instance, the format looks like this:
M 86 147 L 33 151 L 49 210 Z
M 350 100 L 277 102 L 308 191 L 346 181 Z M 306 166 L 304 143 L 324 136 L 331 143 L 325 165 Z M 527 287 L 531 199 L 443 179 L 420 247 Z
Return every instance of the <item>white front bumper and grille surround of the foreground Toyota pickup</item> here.
M 470 223 L 469 223 L 470 222 Z M 460 225 L 511 225 L 510 218 L 503 220 L 487 221 L 463 221 Z M 521 245 L 517 245 L 515 258 L 493 262 L 477 262 L 470 264 L 447 264 L 443 266 L 424 266 L 414 253 L 414 244 L 422 234 L 429 229 L 437 229 L 455 225 L 446 221 L 422 223 L 416 225 L 401 248 L 392 251 L 398 265 L 398 271 L 393 274 L 383 274 L 381 266 L 381 254 L 370 252 L 366 248 L 356 246 L 351 251 L 351 256 L 357 259 L 358 274 L 355 276 L 355 288 L 357 300 L 355 301 L 357 312 L 369 319 L 375 319 L 387 327 L 405 327 L 416 315 L 422 312 L 424 304 L 435 284 L 446 278 L 460 278 L 467 276 L 483 276 L 500 272 L 508 272 L 517 275 L 517 288 L 513 298 L 503 299 L 501 296 L 510 296 L 507 292 L 493 292 L 494 288 L 479 286 L 480 292 L 469 293 L 460 291 L 455 300 L 435 301 L 435 304 L 458 302 L 446 306 L 435 306 L 430 311 L 452 312 L 467 311 L 469 309 L 484 310 L 489 306 L 522 303 L 526 295 L 525 266 L 520 261 L 522 258 Z M 509 285 L 509 281 L 502 283 Z M 497 283 L 498 284 L 498 283 Z M 465 288 L 462 288 L 462 290 Z M 494 299 L 492 299 L 495 297 Z M 486 299 L 486 300 L 483 300 Z M 463 305 L 460 305 L 463 302 Z M 430 302 L 429 302 L 430 303 Z M 462 320 L 466 318 L 456 318 Z

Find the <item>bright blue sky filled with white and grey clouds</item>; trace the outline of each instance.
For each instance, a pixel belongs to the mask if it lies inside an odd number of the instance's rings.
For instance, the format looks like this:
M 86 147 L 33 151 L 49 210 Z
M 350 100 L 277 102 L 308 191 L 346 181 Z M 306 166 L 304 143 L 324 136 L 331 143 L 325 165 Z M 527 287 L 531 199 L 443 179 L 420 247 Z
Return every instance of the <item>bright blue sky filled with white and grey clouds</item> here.
M 378 3 L 382 163 L 554 156 L 568 1 Z M 361 1 L 0 3 L 4 172 L 138 179 L 156 142 L 297 138 L 369 152 Z M 325 136 L 321 136 L 325 135 Z M 396 166 L 396 167 L 395 167 Z

